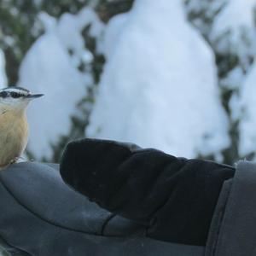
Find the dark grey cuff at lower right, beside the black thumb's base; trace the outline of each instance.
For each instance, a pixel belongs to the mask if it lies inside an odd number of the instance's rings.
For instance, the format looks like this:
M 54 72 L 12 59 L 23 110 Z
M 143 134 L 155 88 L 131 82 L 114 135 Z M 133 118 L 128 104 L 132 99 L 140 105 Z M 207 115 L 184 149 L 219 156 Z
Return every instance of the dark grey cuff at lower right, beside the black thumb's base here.
M 256 164 L 240 161 L 224 183 L 209 231 L 206 256 L 256 255 Z

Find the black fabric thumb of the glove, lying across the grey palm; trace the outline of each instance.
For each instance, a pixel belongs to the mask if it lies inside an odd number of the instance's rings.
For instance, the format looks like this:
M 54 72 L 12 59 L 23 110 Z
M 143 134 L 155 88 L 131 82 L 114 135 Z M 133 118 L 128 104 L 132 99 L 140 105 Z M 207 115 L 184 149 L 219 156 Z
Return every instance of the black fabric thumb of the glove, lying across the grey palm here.
M 234 172 L 212 161 L 95 139 L 69 143 L 61 160 L 67 184 L 109 212 L 145 225 L 147 236 L 201 246 L 222 185 Z

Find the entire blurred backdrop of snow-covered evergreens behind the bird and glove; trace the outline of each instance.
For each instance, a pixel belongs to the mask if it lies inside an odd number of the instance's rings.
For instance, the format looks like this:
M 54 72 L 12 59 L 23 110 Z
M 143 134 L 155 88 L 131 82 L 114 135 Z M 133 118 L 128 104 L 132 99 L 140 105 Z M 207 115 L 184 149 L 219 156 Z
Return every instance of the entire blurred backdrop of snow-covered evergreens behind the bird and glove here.
M 9 83 L 46 94 L 30 108 L 30 157 L 59 160 L 84 129 L 226 163 L 255 154 L 256 0 L 14 3 L 0 2 Z

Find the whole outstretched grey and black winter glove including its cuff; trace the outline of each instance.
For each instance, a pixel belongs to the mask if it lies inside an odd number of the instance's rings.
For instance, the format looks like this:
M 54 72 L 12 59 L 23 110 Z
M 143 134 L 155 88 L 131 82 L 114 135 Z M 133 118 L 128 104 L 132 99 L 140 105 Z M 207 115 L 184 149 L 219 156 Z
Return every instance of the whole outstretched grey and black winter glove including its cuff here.
M 84 139 L 67 146 L 58 169 L 20 163 L 0 172 L 0 245 L 11 255 L 254 255 L 251 163 L 235 172 Z

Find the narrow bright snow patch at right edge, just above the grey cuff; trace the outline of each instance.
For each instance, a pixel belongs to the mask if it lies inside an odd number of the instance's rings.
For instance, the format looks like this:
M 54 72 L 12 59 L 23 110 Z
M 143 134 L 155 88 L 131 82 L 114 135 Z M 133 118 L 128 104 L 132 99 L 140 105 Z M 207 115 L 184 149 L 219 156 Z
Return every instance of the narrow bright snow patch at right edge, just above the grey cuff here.
M 241 156 L 256 152 L 256 63 L 248 73 L 247 78 L 241 87 L 241 98 L 239 104 L 243 110 L 239 125 L 240 144 L 239 153 Z

